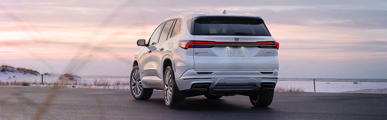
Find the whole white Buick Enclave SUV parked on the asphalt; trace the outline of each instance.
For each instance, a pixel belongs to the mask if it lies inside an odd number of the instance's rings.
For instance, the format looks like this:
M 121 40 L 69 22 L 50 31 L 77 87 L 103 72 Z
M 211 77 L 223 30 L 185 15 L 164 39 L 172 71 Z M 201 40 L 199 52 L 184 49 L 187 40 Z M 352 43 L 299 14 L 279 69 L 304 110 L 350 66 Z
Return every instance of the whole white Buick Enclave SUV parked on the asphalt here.
M 279 43 L 259 15 L 184 13 L 165 19 L 134 55 L 131 91 L 147 100 L 164 91 L 168 108 L 185 98 L 245 95 L 269 106 L 278 79 Z

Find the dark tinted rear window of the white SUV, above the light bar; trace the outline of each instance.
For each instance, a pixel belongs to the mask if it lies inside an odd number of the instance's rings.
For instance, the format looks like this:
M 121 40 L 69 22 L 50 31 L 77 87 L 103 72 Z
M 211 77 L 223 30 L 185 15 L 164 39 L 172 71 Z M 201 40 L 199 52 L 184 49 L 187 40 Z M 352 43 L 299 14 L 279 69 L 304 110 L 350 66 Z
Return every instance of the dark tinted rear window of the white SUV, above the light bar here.
M 264 20 L 246 17 L 204 17 L 195 20 L 192 35 L 271 36 Z

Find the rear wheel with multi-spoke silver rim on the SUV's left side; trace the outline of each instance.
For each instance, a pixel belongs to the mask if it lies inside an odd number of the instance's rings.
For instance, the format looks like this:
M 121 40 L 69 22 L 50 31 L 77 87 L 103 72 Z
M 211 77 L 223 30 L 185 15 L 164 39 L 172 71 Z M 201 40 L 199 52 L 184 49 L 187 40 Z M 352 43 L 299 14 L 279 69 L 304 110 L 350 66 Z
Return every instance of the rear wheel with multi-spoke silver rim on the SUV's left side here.
M 168 66 L 164 72 L 164 101 L 168 108 L 182 108 L 185 104 L 185 91 L 179 91 L 175 81 L 172 66 Z

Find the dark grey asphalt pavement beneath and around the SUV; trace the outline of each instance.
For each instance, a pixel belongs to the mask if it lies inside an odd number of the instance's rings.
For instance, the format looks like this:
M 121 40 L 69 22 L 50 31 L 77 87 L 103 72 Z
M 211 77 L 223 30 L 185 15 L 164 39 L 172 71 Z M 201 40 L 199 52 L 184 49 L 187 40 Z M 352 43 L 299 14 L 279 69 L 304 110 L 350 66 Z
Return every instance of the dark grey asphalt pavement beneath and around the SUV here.
M 247 96 L 186 99 L 169 109 L 162 91 L 134 100 L 129 90 L 0 86 L 0 119 L 372 119 L 387 120 L 387 94 L 276 92 L 267 108 Z

